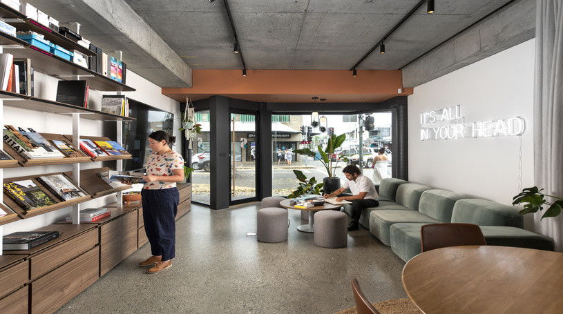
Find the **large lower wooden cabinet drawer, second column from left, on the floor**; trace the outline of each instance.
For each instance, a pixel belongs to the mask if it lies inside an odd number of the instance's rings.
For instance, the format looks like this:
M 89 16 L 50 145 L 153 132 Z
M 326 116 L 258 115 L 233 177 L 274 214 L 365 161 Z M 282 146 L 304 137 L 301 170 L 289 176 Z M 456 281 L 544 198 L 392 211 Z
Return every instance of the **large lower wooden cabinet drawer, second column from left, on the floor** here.
M 99 250 L 92 248 L 31 283 L 31 313 L 53 313 L 98 279 Z

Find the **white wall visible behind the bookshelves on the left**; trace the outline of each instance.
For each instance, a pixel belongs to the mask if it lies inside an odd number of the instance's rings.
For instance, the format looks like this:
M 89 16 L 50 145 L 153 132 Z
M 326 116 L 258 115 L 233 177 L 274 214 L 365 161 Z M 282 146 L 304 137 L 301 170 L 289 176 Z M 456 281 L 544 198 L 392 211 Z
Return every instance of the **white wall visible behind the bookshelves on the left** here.
M 85 79 L 88 79 L 87 77 Z M 43 75 L 35 72 L 35 95 L 36 97 L 55 100 L 57 95 L 57 81 L 55 77 Z M 131 97 L 144 104 L 172 112 L 174 114 L 174 135 L 180 138 L 180 104 L 169 97 L 162 95 L 161 88 L 152 84 L 150 81 L 136 75 L 131 70 L 127 71 L 126 84 L 136 89 L 135 92 L 124 92 L 124 95 Z M 88 93 L 88 107 L 99 110 L 102 103 L 102 95 L 115 94 L 115 92 L 99 92 L 90 90 Z M 4 124 L 35 128 L 39 133 L 59 133 L 72 134 L 73 119 L 70 115 L 60 115 L 35 110 L 26 110 L 4 106 Z M 89 136 L 104 136 L 102 134 L 102 121 L 80 119 L 80 134 Z M 174 150 L 180 152 L 180 146 L 174 146 Z M 102 162 L 90 162 L 81 164 L 82 169 L 99 168 Z M 42 173 L 54 173 L 73 170 L 72 165 L 41 166 L 27 168 L 7 168 L 4 169 L 4 177 L 19 177 L 23 175 L 41 175 Z M 4 197 L 8 197 L 4 195 Z M 81 208 L 101 207 L 116 201 L 115 195 L 108 195 L 99 199 L 93 199 L 81 205 Z M 28 231 L 47 226 L 64 219 L 70 215 L 72 207 L 61 208 L 51 213 L 31 217 L 28 219 L 12 222 L 3 226 L 3 235 L 16 231 Z

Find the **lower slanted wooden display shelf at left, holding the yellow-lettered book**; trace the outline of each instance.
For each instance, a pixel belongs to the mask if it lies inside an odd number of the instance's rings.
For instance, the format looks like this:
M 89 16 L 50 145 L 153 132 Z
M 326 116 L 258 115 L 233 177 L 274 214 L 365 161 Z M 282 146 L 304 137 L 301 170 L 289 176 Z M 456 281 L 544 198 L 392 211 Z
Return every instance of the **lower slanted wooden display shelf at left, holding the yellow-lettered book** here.
M 41 175 L 60 175 L 60 174 L 61 173 L 46 173 L 46 174 L 41 174 Z M 44 213 L 49 213 L 53 210 L 65 208 L 65 207 L 68 207 L 68 206 L 73 206 L 73 205 L 79 204 L 79 203 L 84 203 L 84 202 L 92 199 L 92 197 L 90 195 L 86 195 L 86 196 L 83 196 L 83 197 L 77 197 L 75 199 L 70 199 L 69 201 L 60 201 L 59 197 L 55 196 L 53 193 L 51 193 L 50 190 L 48 190 L 48 188 L 46 188 L 44 186 L 44 184 L 42 184 L 40 181 L 35 179 L 36 177 L 39 177 L 41 175 L 27 175 L 25 177 L 6 178 L 3 181 L 4 183 L 6 183 L 6 182 L 11 182 L 11 181 L 31 180 L 31 181 L 33 181 L 33 183 L 35 183 L 37 186 L 39 186 L 39 188 L 41 188 L 41 190 L 43 190 L 43 192 L 46 195 L 49 195 L 49 197 L 51 197 L 53 200 L 55 200 L 56 203 L 53 204 L 53 205 L 48 205 L 48 206 L 43 206 L 43 207 L 34 208 L 34 209 L 30 209 L 30 210 L 25 210 L 24 208 L 21 208 L 21 206 L 19 206 L 19 204 L 17 204 L 13 199 L 11 199 L 7 195 L 7 193 L 5 192 L 4 193 L 4 204 L 6 204 L 6 206 L 8 206 L 11 210 L 13 210 L 15 213 L 17 213 L 17 215 L 19 215 L 19 217 L 21 217 L 22 219 L 34 217 L 34 216 L 41 215 L 41 214 L 44 214 Z M 72 177 L 72 173 L 70 174 L 70 177 Z M 69 181 L 73 181 L 73 180 L 69 179 Z M 73 182 L 73 183 L 75 183 L 75 182 Z

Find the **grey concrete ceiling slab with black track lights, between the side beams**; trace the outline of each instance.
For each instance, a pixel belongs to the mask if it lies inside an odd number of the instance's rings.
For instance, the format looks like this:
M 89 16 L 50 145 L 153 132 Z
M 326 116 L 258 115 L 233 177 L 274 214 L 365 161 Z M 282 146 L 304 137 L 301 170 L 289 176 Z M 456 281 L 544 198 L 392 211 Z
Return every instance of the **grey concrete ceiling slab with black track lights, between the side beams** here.
M 125 0 L 194 69 L 240 69 L 222 0 Z M 247 68 L 347 70 L 419 0 L 228 0 Z M 359 70 L 398 70 L 509 0 L 423 5 Z M 378 51 L 379 52 L 379 51 Z

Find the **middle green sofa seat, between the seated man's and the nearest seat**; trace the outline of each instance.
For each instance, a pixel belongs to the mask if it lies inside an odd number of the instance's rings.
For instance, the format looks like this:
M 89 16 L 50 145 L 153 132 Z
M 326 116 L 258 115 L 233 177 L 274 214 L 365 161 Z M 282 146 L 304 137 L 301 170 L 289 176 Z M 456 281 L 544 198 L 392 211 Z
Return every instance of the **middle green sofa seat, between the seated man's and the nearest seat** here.
M 401 222 L 439 223 L 438 220 L 414 210 L 373 210 L 370 213 L 370 232 L 381 243 L 390 246 L 390 228 L 393 224 Z

